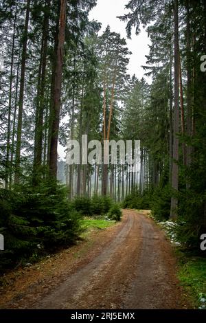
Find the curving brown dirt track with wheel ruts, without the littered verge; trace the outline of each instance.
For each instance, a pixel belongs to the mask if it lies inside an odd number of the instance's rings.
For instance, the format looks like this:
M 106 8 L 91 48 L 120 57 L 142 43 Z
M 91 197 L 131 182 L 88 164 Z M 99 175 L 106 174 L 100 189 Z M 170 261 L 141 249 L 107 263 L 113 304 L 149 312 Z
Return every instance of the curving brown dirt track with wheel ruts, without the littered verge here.
M 179 309 L 181 290 L 163 232 L 144 214 L 125 210 L 125 224 L 90 263 L 36 309 Z

